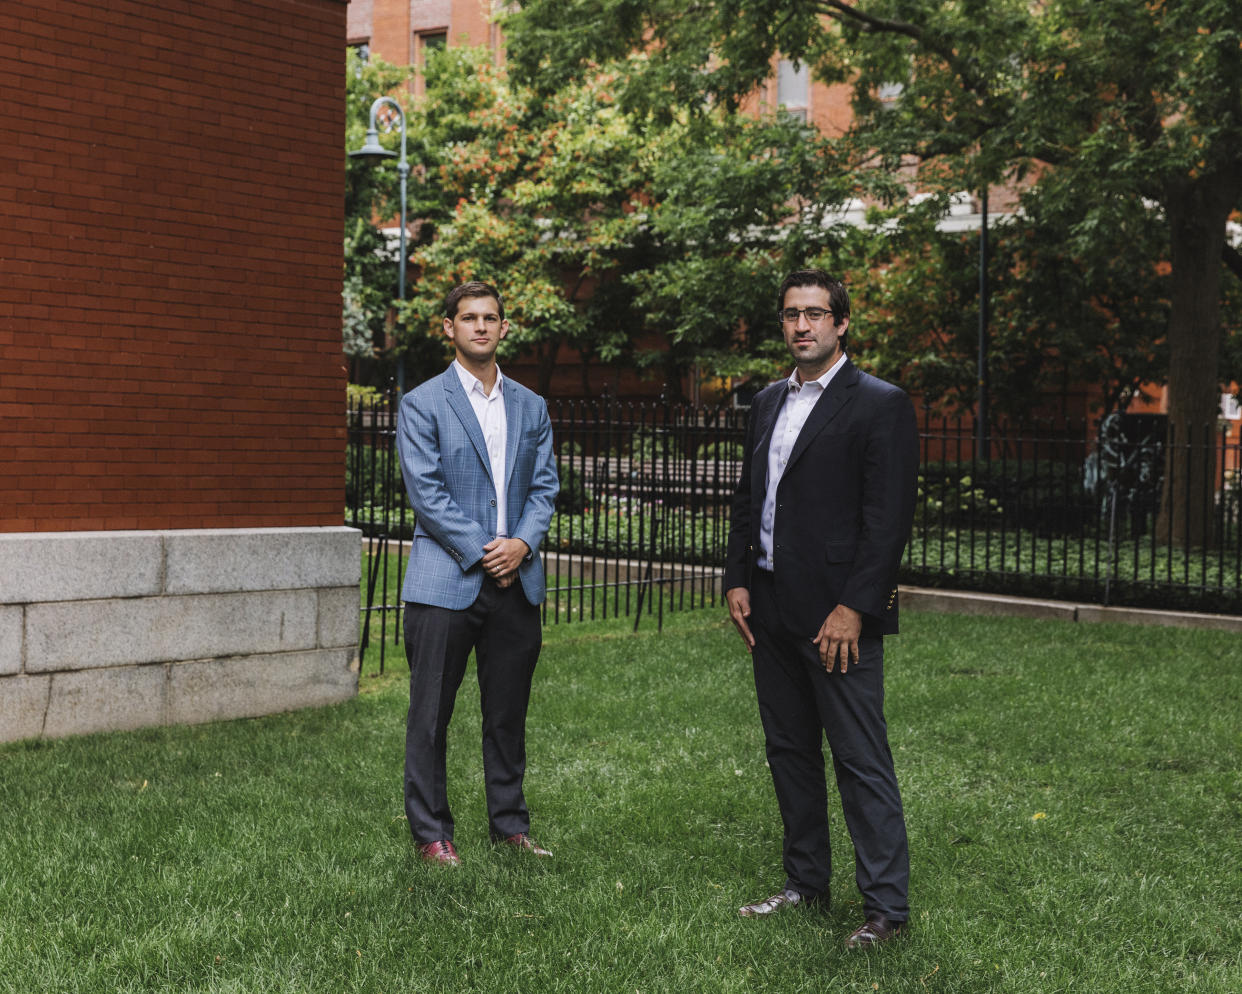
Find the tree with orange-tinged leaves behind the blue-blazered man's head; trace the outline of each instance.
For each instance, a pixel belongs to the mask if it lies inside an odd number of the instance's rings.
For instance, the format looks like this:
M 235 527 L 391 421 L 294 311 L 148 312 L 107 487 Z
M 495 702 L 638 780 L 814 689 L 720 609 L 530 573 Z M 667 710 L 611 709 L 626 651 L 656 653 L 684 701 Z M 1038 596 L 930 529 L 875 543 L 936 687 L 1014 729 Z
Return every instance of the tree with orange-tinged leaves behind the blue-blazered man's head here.
M 512 324 L 502 355 L 534 353 L 542 393 L 565 344 L 623 354 L 582 292 L 615 265 L 641 149 L 607 93 L 587 83 L 535 102 L 481 52 L 448 48 L 430 61 L 411 123 L 424 204 L 407 337 L 438 339 L 445 288 L 487 280 Z

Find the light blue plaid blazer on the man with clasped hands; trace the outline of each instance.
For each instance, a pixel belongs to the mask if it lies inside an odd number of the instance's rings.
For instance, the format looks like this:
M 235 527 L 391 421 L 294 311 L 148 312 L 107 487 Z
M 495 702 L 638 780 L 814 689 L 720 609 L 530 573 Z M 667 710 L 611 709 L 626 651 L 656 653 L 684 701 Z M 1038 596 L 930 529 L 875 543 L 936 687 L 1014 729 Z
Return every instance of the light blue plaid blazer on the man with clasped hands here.
M 551 421 L 543 398 L 509 378 L 504 416 L 508 531 L 530 547 L 533 554 L 518 568 L 518 580 L 527 600 L 540 604 L 539 545 L 560 488 Z M 396 440 L 405 490 L 417 516 L 401 599 L 468 608 L 483 584 L 483 545 L 496 538 L 496 485 L 478 417 L 451 365 L 402 398 Z

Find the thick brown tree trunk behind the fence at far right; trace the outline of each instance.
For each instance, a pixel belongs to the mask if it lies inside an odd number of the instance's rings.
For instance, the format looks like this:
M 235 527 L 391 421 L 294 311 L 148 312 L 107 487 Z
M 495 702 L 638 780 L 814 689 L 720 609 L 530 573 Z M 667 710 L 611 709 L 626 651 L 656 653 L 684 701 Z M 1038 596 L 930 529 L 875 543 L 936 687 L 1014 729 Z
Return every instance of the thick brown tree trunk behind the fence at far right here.
M 1221 245 L 1233 180 L 1202 176 L 1170 191 L 1172 313 L 1169 317 L 1169 437 L 1156 536 L 1182 547 L 1212 540 L 1220 410 Z

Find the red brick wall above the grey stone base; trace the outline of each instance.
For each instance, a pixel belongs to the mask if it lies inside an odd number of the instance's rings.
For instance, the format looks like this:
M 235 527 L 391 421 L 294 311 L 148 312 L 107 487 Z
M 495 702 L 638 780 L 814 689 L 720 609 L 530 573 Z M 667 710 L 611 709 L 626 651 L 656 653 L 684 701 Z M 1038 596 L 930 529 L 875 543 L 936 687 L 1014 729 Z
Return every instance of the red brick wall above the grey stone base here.
M 339 524 L 344 0 L 0 6 L 0 532 Z

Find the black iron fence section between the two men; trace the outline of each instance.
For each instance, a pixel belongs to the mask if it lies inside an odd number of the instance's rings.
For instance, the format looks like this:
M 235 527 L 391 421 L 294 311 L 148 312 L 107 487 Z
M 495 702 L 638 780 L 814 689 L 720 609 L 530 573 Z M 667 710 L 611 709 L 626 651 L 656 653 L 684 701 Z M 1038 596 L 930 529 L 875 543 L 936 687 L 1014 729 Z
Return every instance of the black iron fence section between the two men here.
M 714 604 L 741 471 L 728 408 L 549 405 L 561 492 L 544 558 L 548 624 Z

